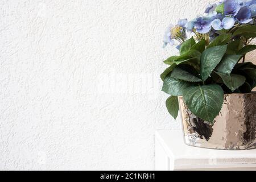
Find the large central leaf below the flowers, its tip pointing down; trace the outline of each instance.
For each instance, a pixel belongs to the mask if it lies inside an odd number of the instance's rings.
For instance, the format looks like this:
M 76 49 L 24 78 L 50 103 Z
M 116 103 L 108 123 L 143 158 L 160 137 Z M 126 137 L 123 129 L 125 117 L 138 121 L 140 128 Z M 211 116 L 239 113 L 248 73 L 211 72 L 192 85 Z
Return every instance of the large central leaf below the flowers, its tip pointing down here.
M 226 52 L 225 46 L 215 46 L 206 49 L 201 55 L 201 70 L 200 75 L 203 81 L 207 80 L 213 69 L 220 63 Z

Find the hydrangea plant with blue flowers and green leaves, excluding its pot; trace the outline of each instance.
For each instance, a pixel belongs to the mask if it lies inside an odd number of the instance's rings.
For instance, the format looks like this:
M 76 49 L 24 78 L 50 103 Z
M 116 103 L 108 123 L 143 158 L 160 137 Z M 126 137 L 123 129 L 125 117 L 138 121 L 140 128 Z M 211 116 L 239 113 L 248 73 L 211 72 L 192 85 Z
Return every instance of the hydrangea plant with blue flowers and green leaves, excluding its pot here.
M 256 49 L 256 0 L 210 3 L 203 15 L 181 19 L 164 34 L 164 46 L 176 46 L 180 55 L 164 61 L 163 92 L 169 113 L 176 119 L 177 96 L 189 110 L 209 123 L 224 102 L 224 94 L 250 93 L 256 86 L 256 65 L 245 63 L 246 53 Z

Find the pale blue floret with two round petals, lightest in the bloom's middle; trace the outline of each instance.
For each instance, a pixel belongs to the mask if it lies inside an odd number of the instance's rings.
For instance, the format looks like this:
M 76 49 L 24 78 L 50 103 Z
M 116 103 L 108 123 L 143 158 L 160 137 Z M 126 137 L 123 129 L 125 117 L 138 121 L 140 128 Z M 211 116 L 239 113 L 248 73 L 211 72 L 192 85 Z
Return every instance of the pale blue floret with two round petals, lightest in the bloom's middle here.
M 234 26 L 235 22 L 236 21 L 232 17 L 225 17 L 222 19 L 222 21 L 220 19 L 214 19 L 212 22 L 212 27 L 214 30 L 222 30 L 223 28 L 225 30 L 229 30 Z

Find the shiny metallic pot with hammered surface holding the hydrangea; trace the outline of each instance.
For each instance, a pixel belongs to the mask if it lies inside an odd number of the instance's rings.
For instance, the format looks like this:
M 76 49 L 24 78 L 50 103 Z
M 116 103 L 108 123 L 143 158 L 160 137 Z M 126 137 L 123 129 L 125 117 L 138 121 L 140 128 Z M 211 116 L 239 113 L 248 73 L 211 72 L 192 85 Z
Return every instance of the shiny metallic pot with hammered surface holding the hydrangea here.
M 222 150 L 256 148 L 256 92 L 225 94 L 220 114 L 213 124 L 189 111 L 179 97 L 185 143 Z

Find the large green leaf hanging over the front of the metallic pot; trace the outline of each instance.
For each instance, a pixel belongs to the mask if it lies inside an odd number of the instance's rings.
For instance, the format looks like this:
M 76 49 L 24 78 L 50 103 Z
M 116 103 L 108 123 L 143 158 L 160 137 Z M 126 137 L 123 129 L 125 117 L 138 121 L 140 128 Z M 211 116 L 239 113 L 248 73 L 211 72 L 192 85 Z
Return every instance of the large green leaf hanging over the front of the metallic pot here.
M 220 113 L 224 92 L 220 85 L 199 85 L 185 89 L 183 98 L 188 109 L 197 117 L 213 122 Z

